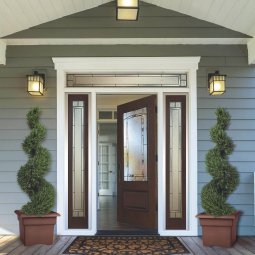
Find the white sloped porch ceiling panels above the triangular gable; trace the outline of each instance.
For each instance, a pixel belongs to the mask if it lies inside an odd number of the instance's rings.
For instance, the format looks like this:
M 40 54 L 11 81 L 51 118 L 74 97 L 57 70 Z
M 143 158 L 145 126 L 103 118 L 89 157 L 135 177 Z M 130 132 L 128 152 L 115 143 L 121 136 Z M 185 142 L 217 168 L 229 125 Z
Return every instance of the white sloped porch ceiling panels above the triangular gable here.
M 0 0 L 0 37 L 112 0 Z M 255 36 L 254 0 L 144 0 Z

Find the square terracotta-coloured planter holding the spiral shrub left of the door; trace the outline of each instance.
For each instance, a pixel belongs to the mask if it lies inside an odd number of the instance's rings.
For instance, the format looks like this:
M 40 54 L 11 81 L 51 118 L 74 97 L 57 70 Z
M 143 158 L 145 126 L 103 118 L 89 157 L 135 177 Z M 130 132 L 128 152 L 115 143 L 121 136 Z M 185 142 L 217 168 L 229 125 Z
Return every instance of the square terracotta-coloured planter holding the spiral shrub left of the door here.
M 53 244 L 58 213 L 43 216 L 25 215 L 19 210 L 15 213 L 19 220 L 20 240 L 24 245 Z

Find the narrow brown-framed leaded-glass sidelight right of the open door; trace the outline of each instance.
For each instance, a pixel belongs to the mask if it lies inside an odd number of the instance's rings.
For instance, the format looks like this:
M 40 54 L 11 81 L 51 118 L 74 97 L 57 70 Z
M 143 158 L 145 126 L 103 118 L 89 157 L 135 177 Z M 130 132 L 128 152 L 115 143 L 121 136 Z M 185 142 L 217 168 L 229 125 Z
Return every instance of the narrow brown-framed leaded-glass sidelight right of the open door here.
M 166 96 L 166 225 L 186 228 L 186 98 Z

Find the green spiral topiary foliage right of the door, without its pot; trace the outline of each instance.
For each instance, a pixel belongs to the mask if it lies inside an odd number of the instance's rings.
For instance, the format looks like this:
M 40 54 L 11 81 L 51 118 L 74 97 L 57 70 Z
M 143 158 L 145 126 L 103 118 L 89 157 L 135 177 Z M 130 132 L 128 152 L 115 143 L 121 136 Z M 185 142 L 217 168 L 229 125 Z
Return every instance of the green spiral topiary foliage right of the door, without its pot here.
M 211 140 L 216 145 L 207 152 L 205 158 L 206 168 L 212 180 L 203 187 L 201 202 L 207 214 L 223 216 L 235 211 L 226 201 L 239 183 L 239 174 L 228 162 L 228 156 L 234 150 L 234 144 L 226 133 L 231 117 L 224 108 L 217 108 L 216 116 L 217 123 L 210 130 Z

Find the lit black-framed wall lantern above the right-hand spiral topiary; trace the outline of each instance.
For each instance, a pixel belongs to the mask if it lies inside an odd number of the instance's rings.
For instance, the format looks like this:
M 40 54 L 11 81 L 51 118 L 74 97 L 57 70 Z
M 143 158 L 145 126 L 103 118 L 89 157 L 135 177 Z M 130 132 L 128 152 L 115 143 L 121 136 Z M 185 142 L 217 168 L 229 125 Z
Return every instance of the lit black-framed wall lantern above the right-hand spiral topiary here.
M 219 71 L 208 74 L 208 90 L 210 95 L 217 96 L 225 93 L 226 77 L 227 75 L 220 74 Z

